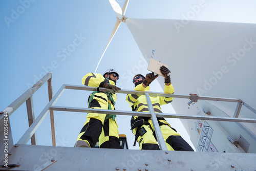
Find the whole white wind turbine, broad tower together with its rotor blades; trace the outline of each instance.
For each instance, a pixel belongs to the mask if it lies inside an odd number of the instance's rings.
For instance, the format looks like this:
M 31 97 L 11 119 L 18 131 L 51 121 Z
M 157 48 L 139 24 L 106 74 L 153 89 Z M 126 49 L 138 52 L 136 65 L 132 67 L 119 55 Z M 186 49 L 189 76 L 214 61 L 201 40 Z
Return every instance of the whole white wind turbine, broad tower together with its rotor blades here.
M 110 0 L 117 15 L 117 22 L 106 48 L 123 22 L 131 31 L 147 62 L 150 58 L 155 58 L 169 66 L 175 93 L 240 98 L 256 109 L 256 91 L 253 91 L 256 84 L 256 79 L 253 79 L 256 73 L 256 24 L 127 18 L 124 14 L 128 2 L 126 1 L 121 9 L 115 0 Z M 193 12 L 197 11 L 190 11 L 190 14 Z M 159 82 L 162 81 L 160 77 L 157 79 Z M 164 89 L 164 84 L 160 83 L 160 86 Z M 177 113 L 188 115 L 197 115 L 200 110 L 204 115 L 203 109 L 208 109 L 215 111 L 211 112 L 211 116 L 233 117 L 236 110 L 236 104 L 233 103 L 216 104 L 203 101 L 188 108 L 187 102 L 175 98 L 172 106 Z M 255 119 L 256 115 L 244 110 L 240 112 L 239 117 Z M 256 153 L 255 124 L 229 125 L 225 122 L 203 121 L 202 127 L 195 129 L 199 121 L 182 120 L 182 123 L 195 147 L 200 145 L 203 132 L 195 130 L 200 130 L 206 125 L 214 132 L 207 142 L 212 142 L 218 151 L 225 151 L 229 146 L 226 137 L 232 135 L 236 139 L 244 137 L 250 144 L 249 148 L 239 150 L 233 146 L 233 152 L 240 153 L 240 150 L 244 150 Z M 220 139 L 219 136 L 224 138 Z M 208 148 L 206 146 L 205 148 Z

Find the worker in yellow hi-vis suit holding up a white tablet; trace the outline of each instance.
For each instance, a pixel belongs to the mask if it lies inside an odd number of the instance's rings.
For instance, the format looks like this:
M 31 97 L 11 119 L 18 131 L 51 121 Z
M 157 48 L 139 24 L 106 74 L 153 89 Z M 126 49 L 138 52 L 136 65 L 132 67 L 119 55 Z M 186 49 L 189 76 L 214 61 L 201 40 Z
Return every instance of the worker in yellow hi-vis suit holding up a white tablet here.
M 164 93 L 174 93 L 174 87 L 170 82 L 170 71 L 162 66 L 161 73 L 165 75 Z M 134 76 L 133 83 L 136 91 L 149 91 L 148 86 L 158 75 L 154 73 L 147 74 L 144 77 L 141 74 Z M 162 113 L 160 106 L 173 101 L 173 97 L 155 97 L 150 96 L 154 111 Z M 146 97 L 144 95 L 127 94 L 126 101 L 135 112 L 148 112 Z M 168 150 L 172 151 L 194 151 L 193 148 L 173 129 L 164 118 L 157 118 L 160 129 Z M 151 117 L 133 116 L 131 119 L 131 130 L 135 135 L 140 149 L 160 149 L 157 143 L 156 134 Z

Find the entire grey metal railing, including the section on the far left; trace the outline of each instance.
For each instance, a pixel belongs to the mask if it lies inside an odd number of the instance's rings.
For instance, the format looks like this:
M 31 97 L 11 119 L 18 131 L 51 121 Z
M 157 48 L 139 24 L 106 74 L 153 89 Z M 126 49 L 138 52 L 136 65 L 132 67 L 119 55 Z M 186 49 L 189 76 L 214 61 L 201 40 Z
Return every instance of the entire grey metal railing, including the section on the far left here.
M 49 73 L 48 73 L 49 74 Z M 30 88 L 27 92 L 25 92 L 22 96 L 20 96 L 17 100 L 15 100 L 11 105 L 8 106 L 3 112 L 8 112 L 11 115 L 23 102 L 28 100 L 32 100 L 32 94 L 41 87 L 43 83 L 48 80 L 48 88 L 49 84 L 51 85 L 51 75 L 46 75 L 40 81 L 40 83 L 35 84 L 33 88 Z M 49 81 L 50 80 L 50 81 Z M 49 83 L 50 82 L 50 83 Z M 51 87 L 51 86 L 50 86 Z M 47 114 L 50 112 L 52 115 L 51 117 L 51 124 L 52 124 L 52 137 L 53 137 L 53 146 L 55 146 L 55 133 L 54 133 L 54 120 L 53 120 L 53 111 L 67 111 L 67 112 L 83 112 L 83 113 L 101 113 L 101 114 L 116 114 L 116 115 L 130 115 L 130 116 L 150 116 L 152 118 L 152 122 L 154 125 L 154 129 L 156 132 L 156 136 L 158 139 L 159 147 L 162 150 L 167 150 L 165 145 L 163 136 L 161 134 L 160 126 L 157 121 L 157 117 L 166 117 L 166 118 L 179 118 L 179 119 L 200 119 L 200 120 L 214 120 L 214 121 L 229 121 L 229 122 L 249 122 L 249 123 L 256 123 L 256 119 L 251 118 L 238 118 L 240 110 L 244 105 L 250 111 L 256 114 L 256 110 L 251 108 L 247 103 L 242 101 L 241 99 L 234 99 L 234 98 L 221 98 L 221 97 L 207 97 L 207 96 L 198 96 L 195 94 L 190 95 L 180 95 L 180 94 L 167 94 L 167 93 L 158 93 L 158 92 L 141 92 L 141 91 L 133 91 L 133 90 L 119 90 L 116 93 L 121 94 L 136 94 L 136 95 L 145 95 L 147 99 L 147 105 L 149 113 L 147 112 L 133 112 L 133 111 L 119 111 L 119 110 L 102 110 L 102 109 L 89 109 L 89 108 L 73 108 L 68 106 L 54 106 L 58 98 L 66 89 L 72 90 L 83 90 L 83 91 L 97 91 L 95 87 L 87 87 L 87 86 L 73 86 L 63 84 L 58 92 L 54 95 L 52 99 L 49 99 L 50 102 L 46 105 L 44 110 L 38 115 L 38 117 L 34 120 L 34 122 L 30 125 L 29 129 L 25 132 L 25 134 L 20 138 L 17 144 L 26 144 L 29 139 L 35 134 L 38 126 L 41 122 L 46 118 Z M 52 90 L 49 89 L 51 92 Z M 112 92 L 111 89 L 100 88 L 100 91 L 104 92 Z M 198 116 L 198 115 L 181 115 L 181 114 L 168 114 L 168 113 L 155 113 L 153 109 L 153 105 L 150 100 L 150 96 L 163 96 L 163 97 L 174 97 L 174 98 L 185 98 L 190 99 L 191 101 L 197 102 L 198 100 L 212 100 L 212 101 L 226 101 L 226 102 L 237 102 L 237 108 L 234 112 L 234 117 L 214 117 L 214 116 Z M 29 109 L 32 109 L 29 107 Z M 32 109 L 33 111 L 33 109 Z M 29 112 L 28 112 L 29 113 Z M 30 116 L 33 112 L 30 112 Z

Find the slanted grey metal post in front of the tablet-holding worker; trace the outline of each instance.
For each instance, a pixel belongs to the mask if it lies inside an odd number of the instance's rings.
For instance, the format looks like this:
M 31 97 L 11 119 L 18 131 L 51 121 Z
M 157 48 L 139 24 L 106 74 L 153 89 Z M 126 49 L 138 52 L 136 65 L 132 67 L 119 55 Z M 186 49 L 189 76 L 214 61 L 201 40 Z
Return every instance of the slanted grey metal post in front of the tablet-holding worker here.
M 148 95 L 148 93 L 145 93 L 145 95 L 146 95 L 146 100 L 147 100 L 147 107 L 148 107 L 148 110 L 150 111 L 151 120 L 153 122 L 154 130 L 155 130 L 155 133 L 156 133 L 156 136 L 157 136 L 158 145 L 159 145 L 161 150 L 167 151 L 167 147 L 166 147 L 166 144 L 164 142 L 163 135 L 162 135 L 160 126 L 158 124 L 158 120 L 157 120 L 152 102 L 150 100 L 150 95 Z

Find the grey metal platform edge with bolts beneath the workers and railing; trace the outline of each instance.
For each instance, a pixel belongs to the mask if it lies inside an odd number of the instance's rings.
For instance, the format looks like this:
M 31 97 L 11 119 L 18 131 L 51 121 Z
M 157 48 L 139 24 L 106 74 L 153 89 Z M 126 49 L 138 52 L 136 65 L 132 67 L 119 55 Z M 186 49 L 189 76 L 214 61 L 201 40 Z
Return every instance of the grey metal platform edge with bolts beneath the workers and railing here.
M 75 148 L 16 144 L 10 170 L 256 170 L 255 154 Z M 1 170 L 1 168 L 0 168 Z

